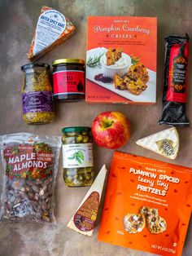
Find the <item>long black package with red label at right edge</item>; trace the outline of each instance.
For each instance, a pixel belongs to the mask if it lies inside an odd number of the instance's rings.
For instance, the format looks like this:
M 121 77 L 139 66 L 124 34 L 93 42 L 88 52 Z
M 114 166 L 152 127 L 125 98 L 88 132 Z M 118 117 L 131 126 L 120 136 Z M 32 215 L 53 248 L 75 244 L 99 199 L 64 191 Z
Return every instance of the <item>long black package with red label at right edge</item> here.
M 165 38 L 163 109 L 159 125 L 182 127 L 190 124 L 185 117 L 189 39 L 187 33 L 185 37 L 169 36 Z

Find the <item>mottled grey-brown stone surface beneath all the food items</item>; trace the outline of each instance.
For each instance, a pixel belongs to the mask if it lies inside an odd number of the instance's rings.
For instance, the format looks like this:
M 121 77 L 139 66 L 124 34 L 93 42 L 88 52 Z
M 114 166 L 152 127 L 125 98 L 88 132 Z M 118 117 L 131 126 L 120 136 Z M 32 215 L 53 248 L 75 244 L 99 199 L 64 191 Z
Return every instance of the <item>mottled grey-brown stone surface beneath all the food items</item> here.
M 46 126 L 28 126 L 22 120 L 21 86 L 23 74 L 20 66 L 28 62 L 26 53 L 33 37 L 41 6 L 54 7 L 67 15 L 76 25 L 76 34 L 61 46 L 51 51 L 42 62 L 70 57 L 85 59 L 86 17 L 87 15 L 142 15 L 158 16 L 158 71 L 157 104 L 153 106 L 130 106 L 112 104 L 87 105 L 85 102 L 57 104 L 55 121 Z M 90 126 L 98 113 L 117 110 L 125 113 L 132 122 L 132 137 L 124 152 L 164 161 L 164 158 L 137 147 L 134 143 L 145 135 L 162 130 L 157 121 L 161 111 L 161 97 L 164 83 L 164 37 L 169 34 L 189 33 L 192 37 L 192 1 L 190 0 L 0 0 L 0 133 L 28 131 L 37 134 L 61 135 L 63 126 Z M 191 43 L 190 43 L 191 45 Z M 190 47 L 190 60 L 192 59 Z M 189 68 L 189 94 L 187 115 L 191 112 L 191 61 Z M 76 111 L 78 109 L 78 111 Z M 191 127 L 178 129 L 181 149 L 174 163 L 190 166 L 192 162 Z M 107 163 L 110 166 L 112 151 L 95 147 L 95 170 Z M 171 161 L 170 161 L 171 162 Z M 2 181 L 2 179 L 1 179 Z M 97 241 L 98 226 L 91 238 L 68 230 L 67 223 L 85 196 L 88 188 L 67 188 L 63 183 L 60 158 L 59 174 L 56 181 L 56 227 L 32 223 L 0 224 L 1 256 L 125 256 L 148 255 L 115 245 Z M 177 202 L 176 202 L 177 203 Z M 183 255 L 192 255 L 192 223 L 185 241 Z M 141 241 L 142 242 L 142 241 Z

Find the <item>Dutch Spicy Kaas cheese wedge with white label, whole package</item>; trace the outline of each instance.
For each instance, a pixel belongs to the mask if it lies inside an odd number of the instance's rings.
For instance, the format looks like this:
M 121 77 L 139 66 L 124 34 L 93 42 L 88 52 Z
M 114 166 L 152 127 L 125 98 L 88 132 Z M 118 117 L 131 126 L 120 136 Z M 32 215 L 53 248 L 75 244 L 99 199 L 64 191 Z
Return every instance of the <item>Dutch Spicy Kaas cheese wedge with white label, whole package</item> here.
M 66 16 L 50 7 L 42 7 L 28 51 L 28 60 L 37 60 L 74 33 L 75 27 Z

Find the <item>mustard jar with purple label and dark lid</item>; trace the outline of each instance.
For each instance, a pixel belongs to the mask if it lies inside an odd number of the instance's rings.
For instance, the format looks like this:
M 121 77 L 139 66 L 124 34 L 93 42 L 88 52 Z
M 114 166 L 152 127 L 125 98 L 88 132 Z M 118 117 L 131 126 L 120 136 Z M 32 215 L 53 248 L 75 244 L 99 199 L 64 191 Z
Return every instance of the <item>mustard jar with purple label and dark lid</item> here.
M 25 64 L 22 89 L 23 118 L 29 125 L 48 124 L 54 120 L 50 65 Z

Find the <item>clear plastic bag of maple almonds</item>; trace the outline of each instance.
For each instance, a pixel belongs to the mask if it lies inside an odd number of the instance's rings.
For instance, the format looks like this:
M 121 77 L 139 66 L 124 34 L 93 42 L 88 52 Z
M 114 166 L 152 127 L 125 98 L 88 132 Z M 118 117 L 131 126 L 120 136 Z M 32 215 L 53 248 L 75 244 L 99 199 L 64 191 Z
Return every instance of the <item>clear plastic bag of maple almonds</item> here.
M 1 222 L 55 222 L 59 136 L 18 133 L 0 136 Z

